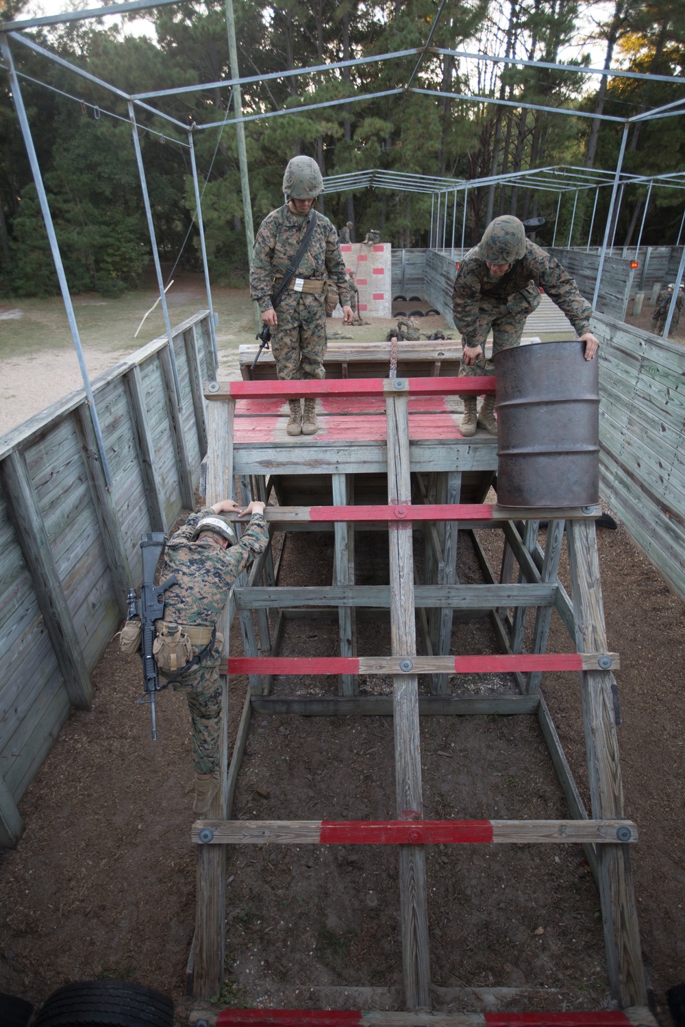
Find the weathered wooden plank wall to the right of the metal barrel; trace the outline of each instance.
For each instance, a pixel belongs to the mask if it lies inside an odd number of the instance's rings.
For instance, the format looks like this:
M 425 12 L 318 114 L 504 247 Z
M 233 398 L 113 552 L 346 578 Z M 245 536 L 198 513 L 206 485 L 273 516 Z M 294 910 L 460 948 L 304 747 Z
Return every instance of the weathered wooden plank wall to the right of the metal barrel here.
M 685 346 L 596 314 L 600 492 L 685 601 Z

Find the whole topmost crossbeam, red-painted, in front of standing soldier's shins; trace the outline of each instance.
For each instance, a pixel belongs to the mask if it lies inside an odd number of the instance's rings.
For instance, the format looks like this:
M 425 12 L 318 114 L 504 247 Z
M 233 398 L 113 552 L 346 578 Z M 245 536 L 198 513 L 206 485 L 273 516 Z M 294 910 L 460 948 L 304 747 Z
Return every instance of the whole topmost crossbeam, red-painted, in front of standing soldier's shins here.
M 481 378 L 340 378 L 324 381 L 205 382 L 206 400 L 273 400 L 274 396 L 495 394 L 494 376 Z

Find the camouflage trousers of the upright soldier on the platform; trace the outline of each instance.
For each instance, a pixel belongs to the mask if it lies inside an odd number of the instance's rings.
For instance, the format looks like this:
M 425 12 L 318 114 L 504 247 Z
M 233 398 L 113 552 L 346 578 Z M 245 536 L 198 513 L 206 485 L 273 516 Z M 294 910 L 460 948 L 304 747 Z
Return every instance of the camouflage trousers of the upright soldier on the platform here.
M 324 294 L 288 292 L 271 329 L 271 352 L 282 380 L 325 378 L 326 300 Z

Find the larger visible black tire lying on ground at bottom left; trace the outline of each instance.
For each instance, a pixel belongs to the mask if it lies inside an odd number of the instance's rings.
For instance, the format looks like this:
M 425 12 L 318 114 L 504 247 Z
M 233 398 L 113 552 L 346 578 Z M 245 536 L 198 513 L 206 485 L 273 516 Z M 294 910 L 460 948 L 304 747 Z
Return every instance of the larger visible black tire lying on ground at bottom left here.
M 129 981 L 79 981 L 52 992 L 33 1027 L 174 1027 L 174 1002 Z

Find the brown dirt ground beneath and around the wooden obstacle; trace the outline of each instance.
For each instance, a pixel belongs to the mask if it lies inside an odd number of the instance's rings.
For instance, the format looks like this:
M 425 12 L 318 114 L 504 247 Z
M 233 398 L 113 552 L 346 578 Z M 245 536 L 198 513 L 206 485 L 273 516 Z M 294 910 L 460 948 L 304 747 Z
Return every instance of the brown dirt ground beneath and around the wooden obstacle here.
M 499 567 L 499 536 L 480 537 Z M 620 525 L 600 529 L 598 541 L 609 645 L 621 656 L 618 738 L 625 811 L 640 830 L 632 851 L 641 938 L 665 1027 L 664 992 L 685 979 L 685 608 Z M 386 553 L 384 536 L 359 533 L 358 583 L 387 580 Z M 420 538 L 416 555 L 420 565 Z M 328 584 L 332 567 L 332 536 L 293 534 L 280 581 Z M 481 579 L 466 534 L 459 578 Z M 457 620 L 452 647 L 495 651 L 489 622 Z M 555 614 L 549 649 L 568 648 Z M 241 652 L 238 632 L 231 651 Z M 387 653 L 387 623 L 360 618 L 357 651 Z M 337 617 L 288 621 L 279 654 L 336 652 Z M 126 979 L 172 996 L 178 1024 L 186 1024 L 195 851 L 185 701 L 170 691 L 160 696 L 153 743 L 149 712 L 136 705 L 140 665 L 119 658 L 116 641 L 92 680 L 92 709 L 73 713 L 21 803 L 18 847 L 0 851 L 0 991 L 40 1004 L 69 981 Z M 464 694 L 516 690 L 506 676 L 452 683 Z M 246 679 L 231 679 L 231 737 L 246 687 Z M 391 682 L 361 679 L 359 687 L 388 693 Z M 428 689 L 423 678 L 420 688 Z M 335 691 L 335 679 L 273 686 L 274 694 Z M 588 802 L 576 677 L 545 676 L 543 691 Z M 426 717 L 421 752 L 426 817 L 568 815 L 532 718 Z M 390 718 L 253 718 L 234 816 L 390 819 L 394 808 Z M 426 863 L 436 1006 L 613 1007 L 599 896 L 581 849 L 430 846 Z M 392 847 L 235 848 L 227 874 L 226 983 L 212 1009 L 402 1007 Z

